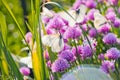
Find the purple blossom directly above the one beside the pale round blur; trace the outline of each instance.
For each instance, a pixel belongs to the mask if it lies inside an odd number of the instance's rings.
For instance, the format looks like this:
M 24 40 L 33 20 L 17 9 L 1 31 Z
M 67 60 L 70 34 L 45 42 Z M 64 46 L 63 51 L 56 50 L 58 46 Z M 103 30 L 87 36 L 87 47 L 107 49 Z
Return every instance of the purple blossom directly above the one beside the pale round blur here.
M 72 61 L 74 56 L 73 56 L 73 53 L 70 51 L 70 50 L 65 50 L 65 51 L 62 51 L 59 55 L 58 55 L 59 58 L 63 58 L 63 59 L 66 59 L 67 61 Z

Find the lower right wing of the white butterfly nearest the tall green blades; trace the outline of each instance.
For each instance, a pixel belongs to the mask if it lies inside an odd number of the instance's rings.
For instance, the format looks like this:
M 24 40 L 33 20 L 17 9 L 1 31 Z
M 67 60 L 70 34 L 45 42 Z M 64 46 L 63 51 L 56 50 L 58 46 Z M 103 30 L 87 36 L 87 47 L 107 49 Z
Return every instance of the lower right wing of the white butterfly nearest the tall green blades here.
M 64 41 L 60 37 L 56 38 L 52 43 L 51 49 L 53 52 L 60 52 L 64 47 Z

